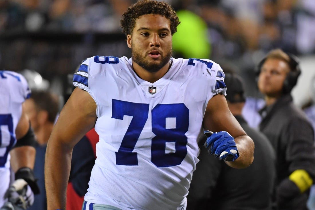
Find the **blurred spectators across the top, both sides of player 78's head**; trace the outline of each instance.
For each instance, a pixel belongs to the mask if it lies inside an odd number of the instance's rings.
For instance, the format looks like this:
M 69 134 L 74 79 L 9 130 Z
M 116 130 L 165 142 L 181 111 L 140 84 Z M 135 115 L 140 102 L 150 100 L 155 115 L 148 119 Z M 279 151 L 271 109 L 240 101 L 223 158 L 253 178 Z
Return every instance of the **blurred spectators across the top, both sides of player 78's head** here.
M 120 32 L 119 20 L 135 0 L 2 0 L 0 32 Z M 314 53 L 312 0 L 168 0 L 207 23 L 213 56 L 240 56 L 281 47 Z M 218 45 L 218 46 L 216 46 Z

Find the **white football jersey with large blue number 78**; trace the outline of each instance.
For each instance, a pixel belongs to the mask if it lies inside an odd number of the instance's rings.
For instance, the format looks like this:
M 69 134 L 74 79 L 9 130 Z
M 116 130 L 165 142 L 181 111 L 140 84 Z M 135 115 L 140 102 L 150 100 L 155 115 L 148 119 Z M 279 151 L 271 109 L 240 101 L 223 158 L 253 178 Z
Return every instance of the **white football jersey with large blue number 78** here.
M 75 73 L 73 84 L 97 104 L 100 136 L 86 201 L 123 210 L 186 208 L 203 115 L 226 86 L 213 61 L 171 61 L 154 83 L 139 78 L 126 57 L 94 56 Z

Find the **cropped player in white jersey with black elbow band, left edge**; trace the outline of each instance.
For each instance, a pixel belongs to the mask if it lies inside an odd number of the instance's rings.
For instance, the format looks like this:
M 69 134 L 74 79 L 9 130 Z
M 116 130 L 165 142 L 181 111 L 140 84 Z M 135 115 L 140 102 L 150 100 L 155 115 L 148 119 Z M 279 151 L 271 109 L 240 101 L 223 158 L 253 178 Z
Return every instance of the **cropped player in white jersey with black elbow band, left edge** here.
M 39 193 L 33 173 L 36 141 L 24 108 L 30 94 L 21 74 L 0 71 L 0 208 L 26 209 Z

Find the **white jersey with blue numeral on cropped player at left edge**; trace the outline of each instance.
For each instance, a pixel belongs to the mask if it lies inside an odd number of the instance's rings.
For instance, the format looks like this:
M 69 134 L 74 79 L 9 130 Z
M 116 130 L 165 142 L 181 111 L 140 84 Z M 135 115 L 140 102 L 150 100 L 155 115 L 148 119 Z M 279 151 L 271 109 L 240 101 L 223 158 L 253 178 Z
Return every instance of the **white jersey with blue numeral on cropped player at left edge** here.
M 19 73 L 0 71 L 0 207 L 10 184 L 10 154 L 16 143 L 15 129 L 22 114 L 22 103 L 31 91 Z

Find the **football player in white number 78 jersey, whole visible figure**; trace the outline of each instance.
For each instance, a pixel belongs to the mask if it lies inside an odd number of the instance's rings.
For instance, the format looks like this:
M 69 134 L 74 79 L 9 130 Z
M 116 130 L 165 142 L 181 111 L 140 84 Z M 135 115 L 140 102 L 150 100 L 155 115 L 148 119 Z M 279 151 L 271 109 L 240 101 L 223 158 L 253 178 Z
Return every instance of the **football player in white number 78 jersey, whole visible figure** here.
M 49 138 L 48 210 L 65 209 L 72 148 L 94 126 L 100 141 L 84 210 L 186 209 L 202 129 L 208 151 L 229 166 L 244 168 L 254 159 L 253 140 L 228 109 L 221 67 L 172 58 L 180 23 L 174 9 L 140 0 L 120 23 L 132 58 L 83 61 Z

